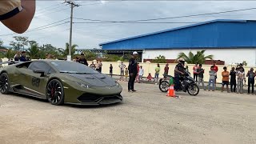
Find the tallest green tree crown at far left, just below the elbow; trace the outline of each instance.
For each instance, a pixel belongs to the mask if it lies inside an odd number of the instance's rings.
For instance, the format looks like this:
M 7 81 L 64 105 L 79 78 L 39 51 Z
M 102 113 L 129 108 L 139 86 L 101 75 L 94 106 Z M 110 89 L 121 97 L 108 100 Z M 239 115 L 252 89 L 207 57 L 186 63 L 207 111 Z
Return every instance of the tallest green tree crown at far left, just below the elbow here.
M 28 45 L 28 37 L 14 36 L 13 38 L 15 42 L 11 41 L 10 46 L 13 46 L 14 50 L 21 50 L 21 48 L 24 50 L 24 46 Z

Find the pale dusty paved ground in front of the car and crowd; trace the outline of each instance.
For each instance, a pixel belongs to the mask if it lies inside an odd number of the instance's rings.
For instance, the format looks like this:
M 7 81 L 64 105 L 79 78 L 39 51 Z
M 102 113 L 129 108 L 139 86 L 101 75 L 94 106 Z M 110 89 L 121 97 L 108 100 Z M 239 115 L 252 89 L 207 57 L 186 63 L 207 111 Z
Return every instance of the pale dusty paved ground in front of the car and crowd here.
M 112 106 L 52 106 L 0 94 L 0 143 L 256 143 L 256 96 L 201 91 L 166 97 L 136 84 Z

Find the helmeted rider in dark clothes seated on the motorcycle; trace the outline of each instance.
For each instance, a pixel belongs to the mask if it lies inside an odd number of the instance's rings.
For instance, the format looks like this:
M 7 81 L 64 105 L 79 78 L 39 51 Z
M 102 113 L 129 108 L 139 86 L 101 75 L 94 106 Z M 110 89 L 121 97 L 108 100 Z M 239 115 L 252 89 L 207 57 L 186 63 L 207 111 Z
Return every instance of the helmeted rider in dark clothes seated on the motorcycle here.
M 185 61 L 183 59 L 178 60 L 178 64 L 175 66 L 174 70 L 174 90 L 179 90 L 181 88 L 181 78 L 185 74 Z

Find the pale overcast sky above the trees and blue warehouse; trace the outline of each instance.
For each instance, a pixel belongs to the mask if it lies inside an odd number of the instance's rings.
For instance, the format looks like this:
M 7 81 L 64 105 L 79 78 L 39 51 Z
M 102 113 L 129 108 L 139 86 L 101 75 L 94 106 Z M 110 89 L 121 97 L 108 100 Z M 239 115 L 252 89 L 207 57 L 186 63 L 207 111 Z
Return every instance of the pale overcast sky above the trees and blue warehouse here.
M 53 46 L 64 47 L 69 42 L 70 7 L 64 1 L 37 1 L 37 10 L 29 30 L 39 26 L 42 30 L 34 30 L 24 34 L 14 34 L 29 37 L 40 45 L 50 43 Z M 89 18 L 110 21 L 127 21 L 147 18 L 165 18 L 190 14 L 205 14 L 226 10 L 239 10 L 256 7 L 253 1 L 75 1 L 81 6 L 74 8 L 74 18 Z M 213 19 L 256 19 L 256 10 L 240 11 L 227 14 L 214 14 L 200 17 L 175 18 L 152 22 L 205 22 Z M 54 22 L 53 25 L 48 25 Z M 64 23 L 66 22 L 66 23 Z M 90 22 L 74 19 L 74 22 Z M 58 24 L 62 24 L 56 26 Z M 48 26 L 46 26 L 48 25 Z M 112 40 L 147 34 L 158 30 L 189 24 L 128 24 L 128 23 L 74 23 L 73 44 L 78 49 L 98 48 L 98 44 Z M 53 26 L 53 27 L 50 27 Z M 49 27 L 45 29 L 45 27 Z M 0 35 L 12 34 L 0 24 Z M 0 36 L 9 46 L 14 35 Z

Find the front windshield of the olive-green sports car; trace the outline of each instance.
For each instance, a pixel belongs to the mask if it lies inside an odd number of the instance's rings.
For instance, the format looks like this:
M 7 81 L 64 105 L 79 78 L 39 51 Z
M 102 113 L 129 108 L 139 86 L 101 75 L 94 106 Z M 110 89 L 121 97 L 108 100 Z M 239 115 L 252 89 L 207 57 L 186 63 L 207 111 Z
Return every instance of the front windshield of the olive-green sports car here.
M 50 62 L 61 73 L 70 74 L 98 74 L 98 71 L 78 62 Z

